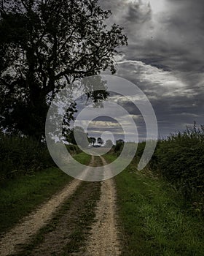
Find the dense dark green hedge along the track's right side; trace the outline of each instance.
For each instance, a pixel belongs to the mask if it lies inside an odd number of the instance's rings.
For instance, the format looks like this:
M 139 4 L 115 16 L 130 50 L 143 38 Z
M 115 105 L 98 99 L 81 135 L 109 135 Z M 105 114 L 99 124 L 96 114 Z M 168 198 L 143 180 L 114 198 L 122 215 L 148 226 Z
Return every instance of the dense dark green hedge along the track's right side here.
M 204 129 L 194 124 L 159 140 L 149 166 L 176 186 L 196 211 L 204 214 Z M 138 159 L 145 143 L 138 144 Z

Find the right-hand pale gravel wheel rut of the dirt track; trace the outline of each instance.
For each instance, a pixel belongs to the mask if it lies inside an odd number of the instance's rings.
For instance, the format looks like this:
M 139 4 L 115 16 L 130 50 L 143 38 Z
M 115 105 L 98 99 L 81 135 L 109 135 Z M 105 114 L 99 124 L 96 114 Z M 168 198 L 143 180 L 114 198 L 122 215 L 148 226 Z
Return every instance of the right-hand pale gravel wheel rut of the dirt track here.
M 104 168 L 107 168 L 106 160 L 101 158 Z M 95 211 L 95 222 L 91 229 L 91 235 L 87 238 L 87 246 L 81 254 L 74 255 L 120 255 L 120 246 L 117 230 L 117 206 L 116 189 L 114 179 L 102 181 L 101 198 L 98 200 Z

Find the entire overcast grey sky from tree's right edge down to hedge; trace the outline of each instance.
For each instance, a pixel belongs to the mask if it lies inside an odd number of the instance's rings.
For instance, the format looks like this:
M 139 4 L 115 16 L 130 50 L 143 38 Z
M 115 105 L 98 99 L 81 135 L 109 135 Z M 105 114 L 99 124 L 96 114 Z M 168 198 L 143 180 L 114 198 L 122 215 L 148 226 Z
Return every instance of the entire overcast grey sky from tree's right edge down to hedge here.
M 128 38 L 116 75 L 144 91 L 156 113 L 159 134 L 183 130 L 193 121 L 204 124 L 204 1 L 100 0 L 100 4 L 112 12 L 109 23 L 123 26 Z M 144 138 L 144 123 L 138 127 Z

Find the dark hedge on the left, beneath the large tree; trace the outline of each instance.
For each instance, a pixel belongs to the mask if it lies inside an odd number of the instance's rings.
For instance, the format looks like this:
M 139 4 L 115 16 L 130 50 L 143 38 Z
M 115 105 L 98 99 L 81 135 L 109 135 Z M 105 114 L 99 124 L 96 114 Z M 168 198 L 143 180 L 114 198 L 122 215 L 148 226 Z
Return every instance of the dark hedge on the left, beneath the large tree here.
M 0 179 L 25 175 L 53 166 L 45 143 L 34 138 L 0 133 Z

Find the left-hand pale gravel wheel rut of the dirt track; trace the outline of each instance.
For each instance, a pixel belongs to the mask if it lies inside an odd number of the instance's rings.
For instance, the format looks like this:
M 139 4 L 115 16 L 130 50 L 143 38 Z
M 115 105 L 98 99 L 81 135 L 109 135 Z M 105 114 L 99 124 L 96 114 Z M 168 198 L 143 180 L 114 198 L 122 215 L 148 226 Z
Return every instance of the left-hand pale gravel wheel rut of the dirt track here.
M 93 162 L 93 158 L 90 165 Z M 59 206 L 71 195 L 74 194 L 82 181 L 74 179 L 63 188 L 60 192 L 53 195 L 52 198 L 44 203 L 34 212 L 23 218 L 22 222 L 17 224 L 8 233 L 6 233 L 0 241 L 0 255 L 7 256 L 15 253 L 17 244 L 26 244 L 34 236 L 37 231 L 42 228 L 50 219 L 52 215 L 59 208 Z

